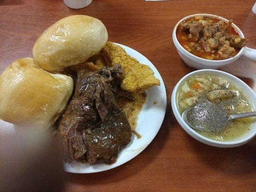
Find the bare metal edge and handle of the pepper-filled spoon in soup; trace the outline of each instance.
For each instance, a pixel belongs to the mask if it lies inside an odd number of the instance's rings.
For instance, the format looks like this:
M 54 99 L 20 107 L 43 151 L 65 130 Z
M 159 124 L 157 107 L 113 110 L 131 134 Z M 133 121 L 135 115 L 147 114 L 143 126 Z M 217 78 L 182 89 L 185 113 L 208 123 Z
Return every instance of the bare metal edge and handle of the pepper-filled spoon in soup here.
M 187 113 L 188 113 L 188 111 L 189 111 L 190 109 L 192 109 L 192 108 L 186 109 L 186 110 L 182 113 L 182 119 L 187 123 L 187 125 L 190 126 L 190 127 L 193 128 L 193 129 L 200 130 L 200 131 L 207 131 L 207 132 L 212 131 L 212 130 L 210 130 L 210 129 L 208 129 L 208 128 L 205 128 L 205 127 L 198 127 L 198 126 L 195 126 L 195 125 L 191 124 L 191 123 L 187 120 Z M 242 118 L 248 118 L 248 117 L 256 117 L 256 111 L 253 111 L 253 112 L 246 112 L 246 113 L 232 114 L 232 115 L 229 115 L 229 116 L 226 118 L 226 121 L 229 121 L 229 120 L 236 120 L 236 119 L 242 119 Z

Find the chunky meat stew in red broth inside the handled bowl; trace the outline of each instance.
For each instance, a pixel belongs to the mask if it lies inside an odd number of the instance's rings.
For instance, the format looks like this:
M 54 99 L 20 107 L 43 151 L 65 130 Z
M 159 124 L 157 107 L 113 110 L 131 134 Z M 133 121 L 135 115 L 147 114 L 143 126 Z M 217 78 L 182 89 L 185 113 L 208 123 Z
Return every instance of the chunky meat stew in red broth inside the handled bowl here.
M 207 60 L 232 58 L 248 42 L 232 27 L 232 20 L 225 23 L 203 16 L 183 21 L 177 28 L 176 36 L 183 48 Z

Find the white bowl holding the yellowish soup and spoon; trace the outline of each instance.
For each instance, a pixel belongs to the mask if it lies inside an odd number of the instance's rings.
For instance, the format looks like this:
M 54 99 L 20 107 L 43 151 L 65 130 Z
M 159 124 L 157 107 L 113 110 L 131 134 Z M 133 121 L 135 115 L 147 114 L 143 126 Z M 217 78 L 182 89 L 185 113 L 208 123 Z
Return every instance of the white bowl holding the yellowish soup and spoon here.
M 234 84 L 236 84 L 238 86 L 238 88 L 240 88 L 241 90 L 244 90 L 244 93 L 247 96 L 248 100 L 251 101 L 251 103 L 252 103 L 253 109 L 254 110 L 256 109 L 256 94 L 253 92 L 253 90 L 247 84 L 245 84 L 242 80 L 233 76 L 232 74 L 229 74 L 227 72 L 218 71 L 218 70 L 211 70 L 211 69 L 198 70 L 198 71 L 195 71 L 195 72 L 191 72 L 191 73 L 188 73 L 187 75 L 185 75 L 176 84 L 176 86 L 174 87 L 174 89 L 172 91 L 172 95 L 171 95 L 172 111 L 174 113 L 175 118 L 177 119 L 179 124 L 182 126 L 183 130 L 185 130 L 185 132 L 187 132 L 190 136 L 192 136 L 197 141 L 200 141 L 204 144 L 208 144 L 208 145 L 211 145 L 211 146 L 216 146 L 216 147 L 236 147 L 236 146 L 246 144 L 251 139 L 253 139 L 256 135 L 256 122 L 254 122 L 254 124 L 252 125 L 252 127 L 250 129 L 250 132 L 247 132 L 241 138 L 239 138 L 237 140 L 234 140 L 234 141 L 231 141 L 231 142 L 219 142 L 219 141 L 208 139 L 208 138 L 200 135 L 199 133 L 195 132 L 192 128 L 190 128 L 185 123 L 185 121 L 182 119 L 182 116 L 179 113 L 178 108 L 177 108 L 177 103 L 176 103 L 177 90 L 178 90 L 179 86 L 184 81 L 186 81 L 186 79 L 188 77 L 190 77 L 192 75 L 199 75 L 199 74 L 212 74 L 212 75 L 218 75 L 220 77 L 225 77 L 225 78 L 229 79 Z

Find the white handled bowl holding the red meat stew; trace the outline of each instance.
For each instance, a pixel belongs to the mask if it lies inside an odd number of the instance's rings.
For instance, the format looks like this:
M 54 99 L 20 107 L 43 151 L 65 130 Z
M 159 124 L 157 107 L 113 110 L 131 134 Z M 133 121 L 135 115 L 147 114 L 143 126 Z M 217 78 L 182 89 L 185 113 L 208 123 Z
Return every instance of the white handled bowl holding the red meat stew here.
M 252 48 L 241 48 L 241 50 L 232 58 L 226 59 L 226 60 L 206 60 L 206 59 L 202 59 L 200 57 L 197 57 L 195 55 L 193 55 L 192 53 L 188 52 L 186 49 L 184 49 L 182 47 L 182 45 L 179 43 L 177 36 L 176 36 L 176 30 L 177 27 L 179 26 L 179 24 L 181 24 L 184 20 L 187 20 L 191 17 L 195 17 L 195 16 L 206 16 L 206 17 L 214 17 L 217 18 L 221 21 L 224 21 L 226 23 L 228 23 L 228 20 L 217 16 L 217 15 L 212 15 L 212 14 L 194 14 L 194 15 L 189 15 L 187 17 L 184 17 L 182 20 L 180 20 L 174 27 L 173 32 L 172 32 L 172 40 L 173 43 L 178 51 L 178 54 L 180 55 L 180 57 L 182 58 L 182 60 L 190 67 L 193 67 L 195 69 L 218 69 L 220 67 L 223 67 L 227 64 L 231 64 L 232 62 L 234 62 L 235 60 L 237 60 L 241 55 L 244 55 L 254 61 L 256 61 L 256 49 L 252 49 Z M 235 25 L 232 23 L 232 27 L 238 32 L 238 34 L 244 38 L 244 34 L 242 33 L 242 31 Z

